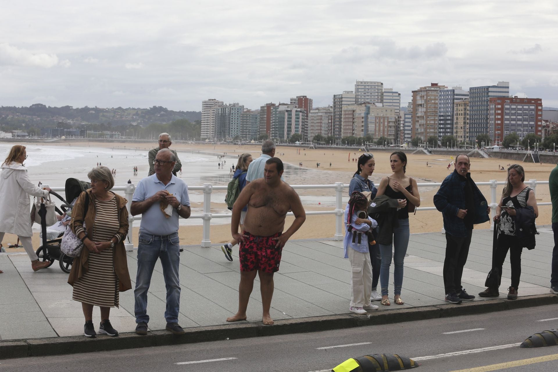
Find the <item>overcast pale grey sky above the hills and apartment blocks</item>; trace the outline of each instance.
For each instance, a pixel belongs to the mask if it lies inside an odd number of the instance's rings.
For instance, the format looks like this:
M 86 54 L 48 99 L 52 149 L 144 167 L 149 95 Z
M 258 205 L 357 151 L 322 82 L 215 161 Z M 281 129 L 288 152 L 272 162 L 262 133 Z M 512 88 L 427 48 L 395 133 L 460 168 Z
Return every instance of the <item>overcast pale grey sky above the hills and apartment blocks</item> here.
M 376 80 L 496 85 L 558 107 L 558 2 L 0 2 L 0 106 L 314 107 Z

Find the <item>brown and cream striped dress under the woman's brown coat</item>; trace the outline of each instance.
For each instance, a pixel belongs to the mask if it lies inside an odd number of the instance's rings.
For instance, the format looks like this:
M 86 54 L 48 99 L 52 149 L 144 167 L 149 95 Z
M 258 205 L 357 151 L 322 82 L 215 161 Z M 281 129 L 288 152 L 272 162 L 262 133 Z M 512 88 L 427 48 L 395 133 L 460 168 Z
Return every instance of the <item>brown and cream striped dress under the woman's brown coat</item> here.
M 120 224 L 116 197 L 113 195 L 112 199 L 107 201 L 94 199 L 94 202 L 96 215 L 93 241 L 109 241 L 114 237 L 121 241 L 122 235 L 117 232 Z M 76 235 L 81 231 L 84 231 L 83 228 L 76 229 Z M 89 252 L 88 265 L 89 269 L 84 276 L 74 283 L 74 301 L 95 306 L 118 307 L 119 291 L 118 277 L 114 272 L 114 250 L 109 247 L 100 253 Z

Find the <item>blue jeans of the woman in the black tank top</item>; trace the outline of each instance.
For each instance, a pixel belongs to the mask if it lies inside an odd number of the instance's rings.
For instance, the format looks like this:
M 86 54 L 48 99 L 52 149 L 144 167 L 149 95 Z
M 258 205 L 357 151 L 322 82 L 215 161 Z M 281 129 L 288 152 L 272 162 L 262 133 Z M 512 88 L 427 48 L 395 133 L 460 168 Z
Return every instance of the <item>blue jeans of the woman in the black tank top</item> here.
M 389 284 L 389 266 L 391 265 L 392 245 L 378 244 L 380 253 L 382 254 L 382 267 L 380 269 L 380 286 L 382 288 L 382 296 L 387 296 Z M 409 245 L 409 219 L 399 220 L 399 227 L 393 231 L 393 293 L 401 294 L 403 286 L 403 260 L 407 253 Z

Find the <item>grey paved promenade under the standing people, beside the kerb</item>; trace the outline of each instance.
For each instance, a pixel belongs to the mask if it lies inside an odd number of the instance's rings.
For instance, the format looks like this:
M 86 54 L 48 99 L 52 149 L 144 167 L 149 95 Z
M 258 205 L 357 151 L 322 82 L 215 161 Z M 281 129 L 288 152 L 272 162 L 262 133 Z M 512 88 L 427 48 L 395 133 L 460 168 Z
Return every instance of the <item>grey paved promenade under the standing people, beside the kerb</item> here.
M 548 294 L 554 240 L 550 226 L 540 226 L 535 250 L 523 250 L 519 301 L 525 296 Z M 237 311 L 239 263 L 238 247 L 234 261 L 228 262 L 219 247 L 184 246 L 180 258 L 182 327 L 229 325 L 225 321 Z M 388 313 L 405 308 L 438 306 L 444 302 L 442 267 L 445 236 L 441 233 L 412 234 L 401 294 L 405 305 L 380 305 L 373 313 Z M 463 286 L 477 295 L 484 289 L 490 270 L 492 232 L 474 230 L 469 259 L 463 273 Z M 136 278 L 136 252 L 128 252 L 132 285 Z M 81 303 L 71 299 L 68 275 L 58 262 L 50 268 L 32 272 L 25 253 L 0 255 L 0 346 L 6 340 L 35 339 L 83 335 Z M 393 265 L 392 265 L 393 272 Z M 509 286 L 509 260 L 504 263 L 501 296 L 506 298 Z M 257 281 L 257 279 L 256 279 Z M 390 282 L 393 281 L 393 274 Z M 349 262 L 343 258 L 341 241 L 291 240 L 283 249 L 280 271 L 275 275 L 275 293 L 271 316 L 274 320 L 304 321 L 301 318 L 332 316 L 349 312 Z M 258 283 L 248 306 L 248 322 L 261 322 L 262 304 Z M 390 298 L 393 287 L 390 285 Z M 157 264 L 148 298 L 151 331 L 164 330 L 165 284 Z M 119 332 L 133 332 L 136 326 L 133 290 L 121 293 L 121 306 L 110 313 Z M 505 301 L 508 301 L 507 299 Z M 478 298 L 467 307 L 487 302 Z M 379 305 L 379 302 L 376 302 Z M 451 305 L 465 306 L 464 305 Z M 99 325 L 99 308 L 93 321 Z M 246 323 L 246 322 L 238 322 Z M 281 322 L 276 322 L 281 323 Z M 233 329 L 233 328 L 231 328 Z M 164 331 L 163 331 L 164 332 Z M 85 337 L 83 337 L 85 339 Z

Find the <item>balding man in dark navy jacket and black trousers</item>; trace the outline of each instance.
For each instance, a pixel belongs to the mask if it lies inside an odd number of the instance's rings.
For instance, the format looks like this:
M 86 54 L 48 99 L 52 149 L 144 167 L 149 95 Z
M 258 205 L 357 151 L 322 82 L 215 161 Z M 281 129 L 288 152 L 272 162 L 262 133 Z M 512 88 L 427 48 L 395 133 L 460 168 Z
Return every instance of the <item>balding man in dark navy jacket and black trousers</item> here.
M 475 298 L 461 286 L 461 276 L 469 255 L 473 225 L 482 224 L 490 219 L 490 207 L 471 178 L 470 166 L 469 156 L 459 154 L 455 158 L 453 173 L 445 178 L 434 195 L 434 205 L 442 212 L 444 218 L 444 299 L 451 303 L 472 301 Z

